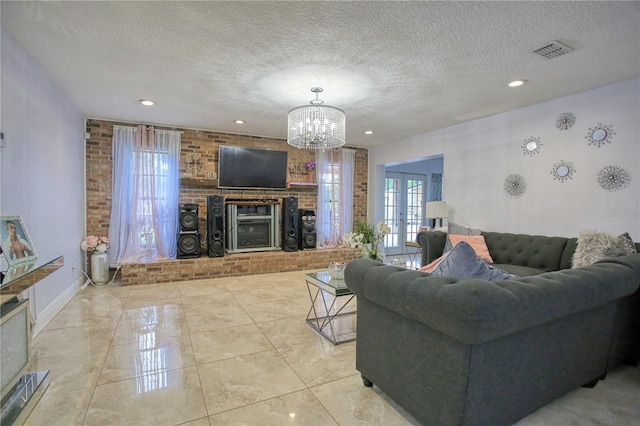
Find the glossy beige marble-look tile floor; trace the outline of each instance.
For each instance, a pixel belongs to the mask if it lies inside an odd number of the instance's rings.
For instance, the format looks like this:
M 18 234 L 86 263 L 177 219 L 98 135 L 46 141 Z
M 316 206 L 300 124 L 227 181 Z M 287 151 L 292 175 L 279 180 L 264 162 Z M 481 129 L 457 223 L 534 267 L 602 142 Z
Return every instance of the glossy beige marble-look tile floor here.
M 36 336 L 51 385 L 27 425 L 418 424 L 304 322 L 304 272 L 88 287 Z M 625 367 L 518 423 L 640 423 Z

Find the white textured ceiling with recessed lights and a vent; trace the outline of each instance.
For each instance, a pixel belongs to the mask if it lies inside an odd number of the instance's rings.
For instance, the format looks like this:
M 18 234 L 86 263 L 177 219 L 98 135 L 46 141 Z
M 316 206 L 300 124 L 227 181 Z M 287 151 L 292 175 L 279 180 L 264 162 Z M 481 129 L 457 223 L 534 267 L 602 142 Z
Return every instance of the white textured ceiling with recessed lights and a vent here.
M 367 147 L 640 75 L 637 1 L 0 7 L 87 117 L 173 127 L 285 138 L 288 110 L 320 86 L 347 114 L 347 144 Z M 575 50 L 532 53 L 553 40 Z M 515 78 L 529 83 L 508 88 Z

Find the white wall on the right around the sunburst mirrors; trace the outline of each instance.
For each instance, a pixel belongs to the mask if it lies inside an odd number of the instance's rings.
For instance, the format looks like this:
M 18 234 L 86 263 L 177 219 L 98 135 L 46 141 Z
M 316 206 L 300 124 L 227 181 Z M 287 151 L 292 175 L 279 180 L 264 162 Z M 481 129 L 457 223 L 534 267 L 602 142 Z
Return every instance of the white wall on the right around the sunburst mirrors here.
M 385 163 L 444 155 L 444 193 L 455 206 L 452 220 L 484 230 L 577 236 L 583 229 L 629 232 L 640 241 L 640 82 L 633 79 L 527 108 L 426 133 L 369 150 L 370 219 L 383 217 Z M 572 112 L 569 130 L 555 126 Z M 585 136 L 598 123 L 613 126 L 612 142 L 597 148 Z M 522 143 L 539 137 L 539 154 L 523 154 Z M 553 179 L 553 164 L 573 162 L 572 180 Z M 617 192 L 600 188 L 596 176 L 608 165 L 623 167 L 631 185 Z M 521 174 L 527 190 L 511 199 L 507 175 Z

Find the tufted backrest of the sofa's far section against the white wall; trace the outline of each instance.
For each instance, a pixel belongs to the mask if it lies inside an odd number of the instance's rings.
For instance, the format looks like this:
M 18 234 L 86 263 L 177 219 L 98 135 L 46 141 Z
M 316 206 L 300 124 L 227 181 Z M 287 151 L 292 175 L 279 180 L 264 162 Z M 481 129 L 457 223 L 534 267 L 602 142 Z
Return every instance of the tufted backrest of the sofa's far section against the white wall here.
M 575 238 L 483 232 L 494 263 L 527 266 L 543 271 L 571 268 Z

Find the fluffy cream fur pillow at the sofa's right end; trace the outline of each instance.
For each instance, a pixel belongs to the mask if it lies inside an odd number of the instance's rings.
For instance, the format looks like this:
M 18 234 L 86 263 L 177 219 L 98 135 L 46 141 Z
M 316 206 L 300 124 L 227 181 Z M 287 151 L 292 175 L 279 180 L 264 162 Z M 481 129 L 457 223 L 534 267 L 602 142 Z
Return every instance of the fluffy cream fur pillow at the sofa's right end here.
M 606 257 L 634 254 L 635 247 L 630 247 L 623 235 L 616 237 L 608 232 L 592 230 L 580 232 L 578 246 L 573 253 L 572 267 L 588 266 Z

